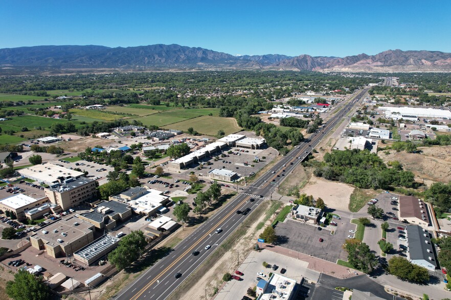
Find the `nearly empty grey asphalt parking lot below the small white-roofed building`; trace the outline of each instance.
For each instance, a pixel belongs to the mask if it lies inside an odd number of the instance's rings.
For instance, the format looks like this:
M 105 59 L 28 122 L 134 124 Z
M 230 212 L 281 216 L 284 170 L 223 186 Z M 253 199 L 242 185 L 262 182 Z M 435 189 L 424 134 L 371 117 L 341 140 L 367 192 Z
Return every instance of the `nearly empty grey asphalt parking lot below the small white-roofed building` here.
M 347 253 L 342 249 L 342 245 L 349 233 L 349 230 L 355 230 L 355 224 L 350 223 L 350 219 L 342 217 L 335 220 L 338 226 L 329 226 L 335 233 L 331 235 L 331 230 L 318 230 L 319 226 L 312 226 L 301 221 L 286 219 L 283 223 L 276 226 L 276 234 L 281 237 L 280 245 L 282 247 L 311 254 L 314 257 L 322 258 L 331 262 L 337 259 L 347 260 Z M 320 238 L 323 242 L 320 242 Z

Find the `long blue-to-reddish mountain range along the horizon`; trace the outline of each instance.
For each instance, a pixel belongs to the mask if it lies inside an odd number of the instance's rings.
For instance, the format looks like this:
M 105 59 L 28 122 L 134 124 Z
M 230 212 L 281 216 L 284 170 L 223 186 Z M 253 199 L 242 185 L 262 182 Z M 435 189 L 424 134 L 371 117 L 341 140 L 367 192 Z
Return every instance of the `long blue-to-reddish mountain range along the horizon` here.
M 377 55 L 290 57 L 279 54 L 233 56 L 205 48 L 148 45 L 110 48 L 96 45 L 32 46 L 0 49 L 1 72 L 23 67 L 47 69 L 272 69 L 315 71 L 451 71 L 451 53 L 388 50 Z

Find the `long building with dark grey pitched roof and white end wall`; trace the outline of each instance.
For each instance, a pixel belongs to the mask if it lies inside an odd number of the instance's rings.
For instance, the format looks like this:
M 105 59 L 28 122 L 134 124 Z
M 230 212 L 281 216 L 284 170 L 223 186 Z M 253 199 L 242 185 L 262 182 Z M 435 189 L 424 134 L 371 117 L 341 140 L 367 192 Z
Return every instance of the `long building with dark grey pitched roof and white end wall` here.
M 431 234 L 417 225 L 407 226 L 406 230 L 410 262 L 429 270 L 435 270 L 437 260 L 431 243 Z

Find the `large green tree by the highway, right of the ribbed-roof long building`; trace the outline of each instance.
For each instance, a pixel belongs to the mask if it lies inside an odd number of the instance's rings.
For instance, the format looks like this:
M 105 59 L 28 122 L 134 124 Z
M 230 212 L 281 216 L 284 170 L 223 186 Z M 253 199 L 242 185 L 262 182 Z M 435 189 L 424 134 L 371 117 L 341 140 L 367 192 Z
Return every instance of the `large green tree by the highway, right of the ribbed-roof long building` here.
M 118 247 L 108 255 L 108 260 L 122 270 L 138 260 L 146 245 L 144 233 L 141 230 L 132 231 L 119 241 Z

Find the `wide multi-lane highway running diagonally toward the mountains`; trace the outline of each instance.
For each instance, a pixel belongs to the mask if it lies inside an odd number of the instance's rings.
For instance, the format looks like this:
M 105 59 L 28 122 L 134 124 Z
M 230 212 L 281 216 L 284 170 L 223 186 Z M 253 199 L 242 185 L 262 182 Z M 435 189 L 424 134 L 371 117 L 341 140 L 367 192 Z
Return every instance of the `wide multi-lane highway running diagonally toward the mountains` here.
M 152 299 L 160 300 L 168 297 L 227 237 L 252 213 L 264 199 L 269 199 L 277 188 L 282 174 L 289 174 L 323 139 L 325 134 L 355 106 L 368 89 L 360 90 L 352 101 L 340 105 L 335 114 L 323 124 L 317 132 L 294 147 L 286 156 L 282 157 L 267 172 L 263 173 L 255 182 L 242 190 L 232 201 L 215 215 L 204 222 L 189 237 L 181 241 L 166 257 L 145 271 L 140 277 L 121 290 L 115 299 Z M 332 113 L 332 112 L 331 112 Z M 253 198 L 254 201 L 250 201 Z M 237 213 L 249 208 L 247 215 Z M 221 228 L 221 233 L 215 231 Z M 209 249 L 206 246 L 210 245 Z M 193 255 L 198 251 L 198 255 Z M 175 278 L 175 273 L 181 277 Z

